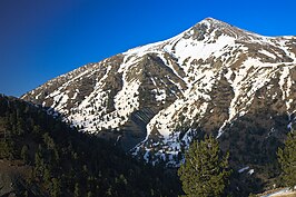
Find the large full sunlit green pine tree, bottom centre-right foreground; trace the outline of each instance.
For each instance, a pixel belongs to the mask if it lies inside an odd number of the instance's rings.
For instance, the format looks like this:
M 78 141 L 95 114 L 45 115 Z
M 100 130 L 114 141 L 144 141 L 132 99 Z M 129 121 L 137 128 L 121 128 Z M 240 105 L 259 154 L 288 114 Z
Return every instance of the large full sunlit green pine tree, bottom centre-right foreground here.
M 221 196 L 230 175 L 228 157 L 229 154 L 221 155 L 218 140 L 213 136 L 194 141 L 178 170 L 186 196 Z

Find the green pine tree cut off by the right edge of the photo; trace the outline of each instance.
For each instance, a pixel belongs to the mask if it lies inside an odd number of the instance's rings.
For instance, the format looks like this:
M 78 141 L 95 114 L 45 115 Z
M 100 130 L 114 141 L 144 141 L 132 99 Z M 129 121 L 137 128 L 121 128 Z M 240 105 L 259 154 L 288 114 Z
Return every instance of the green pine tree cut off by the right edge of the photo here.
M 278 148 L 278 162 L 282 168 L 283 184 L 290 189 L 296 186 L 296 131 L 292 130 L 285 141 L 284 149 Z

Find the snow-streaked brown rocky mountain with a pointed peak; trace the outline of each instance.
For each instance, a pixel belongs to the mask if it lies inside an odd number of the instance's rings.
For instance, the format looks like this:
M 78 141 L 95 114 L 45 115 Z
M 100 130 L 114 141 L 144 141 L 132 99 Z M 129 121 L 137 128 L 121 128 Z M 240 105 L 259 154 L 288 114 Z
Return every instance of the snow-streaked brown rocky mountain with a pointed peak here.
M 264 37 L 207 18 L 21 98 L 152 164 L 178 166 L 194 138 L 214 134 L 235 169 L 260 178 L 266 169 L 270 179 L 295 121 L 295 81 L 296 37 Z

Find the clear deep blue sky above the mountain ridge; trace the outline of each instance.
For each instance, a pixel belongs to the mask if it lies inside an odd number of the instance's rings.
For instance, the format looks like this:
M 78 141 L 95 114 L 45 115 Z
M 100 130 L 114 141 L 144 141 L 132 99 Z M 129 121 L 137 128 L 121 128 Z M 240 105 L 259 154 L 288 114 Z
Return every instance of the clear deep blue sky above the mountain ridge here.
M 260 35 L 296 36 L 295 9 L 295 0 L 0 0 L 0 92 L 21 96 L 207 17 Z

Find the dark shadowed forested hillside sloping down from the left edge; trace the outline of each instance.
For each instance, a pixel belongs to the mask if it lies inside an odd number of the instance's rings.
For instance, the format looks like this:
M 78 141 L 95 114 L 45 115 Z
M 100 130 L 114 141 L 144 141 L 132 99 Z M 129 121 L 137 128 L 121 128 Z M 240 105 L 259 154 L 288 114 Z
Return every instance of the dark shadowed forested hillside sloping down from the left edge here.
M 41 107 L 0 96 L 0 196 L 177 196 L 171 176 Z

